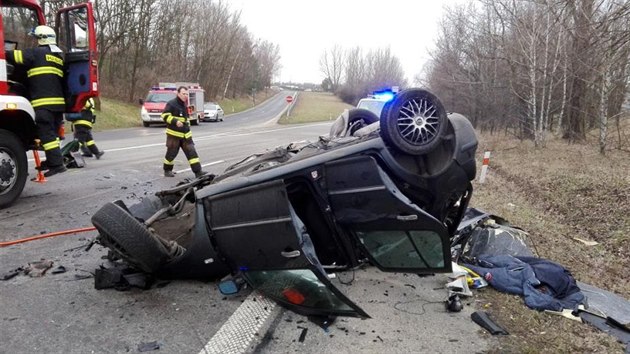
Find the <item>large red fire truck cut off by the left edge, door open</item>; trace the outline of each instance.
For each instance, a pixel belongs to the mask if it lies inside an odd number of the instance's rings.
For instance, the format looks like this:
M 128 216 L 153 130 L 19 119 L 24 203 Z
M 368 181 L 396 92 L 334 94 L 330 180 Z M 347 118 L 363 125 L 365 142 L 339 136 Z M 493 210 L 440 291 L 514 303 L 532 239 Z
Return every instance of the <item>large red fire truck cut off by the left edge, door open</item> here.
M 28 175 L 26 152 L 36 148 L 35 112 L 28 99 L 26 73 L 7 64 L 5 51 L 37 46 L 28 34 L 45 25 L 37 0 L 0 0 L 0 208 L 22 193 Z M 57 44 L 65 53 L 66 111 L 79 112 L 98 96 L 96 31 L 91 3 L 60 9 L 55 17 Z

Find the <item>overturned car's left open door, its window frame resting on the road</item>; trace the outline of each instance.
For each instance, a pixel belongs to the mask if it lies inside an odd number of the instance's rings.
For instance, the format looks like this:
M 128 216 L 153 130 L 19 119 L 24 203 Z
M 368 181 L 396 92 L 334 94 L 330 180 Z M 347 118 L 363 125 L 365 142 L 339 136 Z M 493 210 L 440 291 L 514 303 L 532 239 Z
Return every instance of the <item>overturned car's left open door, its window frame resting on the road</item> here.
M 204 199 L 213 243 L 255 289 L 304 315 L 369 317 L 329 280 L 282 180 Z

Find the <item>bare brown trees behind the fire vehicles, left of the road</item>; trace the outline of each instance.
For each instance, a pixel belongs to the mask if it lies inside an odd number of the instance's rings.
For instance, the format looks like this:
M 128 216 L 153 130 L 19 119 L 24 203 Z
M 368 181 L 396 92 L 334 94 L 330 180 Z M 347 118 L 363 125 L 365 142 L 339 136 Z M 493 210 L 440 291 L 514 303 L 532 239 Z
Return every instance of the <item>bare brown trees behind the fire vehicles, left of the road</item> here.
M 85 0 L 43 0 L 46 13 Z M 206 97 L 271 85 L 279 47 L 256 38 L 225 2 L 96 0 L 102 93 L 135 101 L 158 82 L 199 82 Z M 52 18 L 51 18 L 52 20 Z

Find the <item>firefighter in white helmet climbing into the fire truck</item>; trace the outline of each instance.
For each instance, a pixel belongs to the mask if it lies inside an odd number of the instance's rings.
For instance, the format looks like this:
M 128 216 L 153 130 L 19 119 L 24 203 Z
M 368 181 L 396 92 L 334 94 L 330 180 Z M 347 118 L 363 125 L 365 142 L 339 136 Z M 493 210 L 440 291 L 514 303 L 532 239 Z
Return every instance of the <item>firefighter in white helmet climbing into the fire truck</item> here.
M 66 108 L 63 91 L 63 52 L 57 47 L 55 31 L 48 26 L 37 26 L 33 32 L 38 47 L 10 50 L 7 62 L 26 71 L 31 105 L 35 110 L 35 124 L 46 160 L 41 169 L 50 177 L 65 172 L 57 132 L 63 124 Z

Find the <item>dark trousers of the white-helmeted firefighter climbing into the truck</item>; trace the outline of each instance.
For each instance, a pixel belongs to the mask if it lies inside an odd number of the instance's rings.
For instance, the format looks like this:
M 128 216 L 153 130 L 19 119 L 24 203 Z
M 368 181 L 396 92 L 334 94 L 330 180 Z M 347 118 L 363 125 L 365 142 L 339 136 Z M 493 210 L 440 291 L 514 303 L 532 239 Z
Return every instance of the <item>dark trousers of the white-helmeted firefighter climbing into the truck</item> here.
M 46 154 L 48 167 L 63 165 L 58 137 L 59 127 L 63 124 L 63 113 L 51 112 L 44 108 L 35 109 L 35 124 L 37 125 L 40 145 Z

